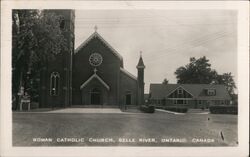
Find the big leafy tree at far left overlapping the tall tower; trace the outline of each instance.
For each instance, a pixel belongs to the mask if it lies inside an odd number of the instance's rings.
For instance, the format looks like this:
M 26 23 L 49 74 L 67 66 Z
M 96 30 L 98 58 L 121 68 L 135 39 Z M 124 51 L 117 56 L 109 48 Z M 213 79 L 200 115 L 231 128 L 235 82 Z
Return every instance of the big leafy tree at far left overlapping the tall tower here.
M 12 93 L 21 87 L 33 94 L 40 70 L 66 50 L 61 17 L 46 10 L 12 11 Z M 37 91 L 37 90 L 36 90 Z

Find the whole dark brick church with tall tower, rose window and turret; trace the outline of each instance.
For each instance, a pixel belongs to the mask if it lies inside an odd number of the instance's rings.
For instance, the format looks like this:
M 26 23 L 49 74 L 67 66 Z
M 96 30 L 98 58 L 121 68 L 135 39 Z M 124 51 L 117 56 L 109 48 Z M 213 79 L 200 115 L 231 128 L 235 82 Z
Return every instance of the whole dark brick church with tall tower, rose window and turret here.
M 141 105 L 144 102 L 144 63 L 140 56 L 137 77 L 123 67 L 122 56 L 97 32 L 75 50 L 73 10 L 53 10 L 62 17 L 60 27 L 67 51 L 43 69 L 40 107 Z

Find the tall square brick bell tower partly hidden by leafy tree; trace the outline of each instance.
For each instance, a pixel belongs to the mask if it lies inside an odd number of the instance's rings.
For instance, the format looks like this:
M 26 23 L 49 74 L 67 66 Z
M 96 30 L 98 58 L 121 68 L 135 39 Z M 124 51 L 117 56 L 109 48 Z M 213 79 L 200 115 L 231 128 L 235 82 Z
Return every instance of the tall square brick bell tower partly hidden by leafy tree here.
M 65 50 L 48 61 L 40 79 L 40 107 L 67 107 L 72 104 L 72 56 L 74 53 L 75 11 L 70 9 L 44 10 L 56 15 L 65 38 Z

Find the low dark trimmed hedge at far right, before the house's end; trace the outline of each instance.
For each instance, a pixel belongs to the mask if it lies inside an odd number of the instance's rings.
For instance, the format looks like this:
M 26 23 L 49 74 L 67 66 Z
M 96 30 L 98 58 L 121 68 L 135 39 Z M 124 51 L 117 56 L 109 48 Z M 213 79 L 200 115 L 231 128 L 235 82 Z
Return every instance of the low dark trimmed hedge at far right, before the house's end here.
M 209 110 L 212 114 L 238 114 L 237 106 L 210 106 Z

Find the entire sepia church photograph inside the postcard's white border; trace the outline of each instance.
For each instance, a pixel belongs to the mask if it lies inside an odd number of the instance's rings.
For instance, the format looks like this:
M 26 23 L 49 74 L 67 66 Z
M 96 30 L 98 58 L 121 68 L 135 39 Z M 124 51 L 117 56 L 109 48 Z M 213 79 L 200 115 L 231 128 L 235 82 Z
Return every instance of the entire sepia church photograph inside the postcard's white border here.
M 11 8 L 10 147 L 238 149 L 239 14 Z

